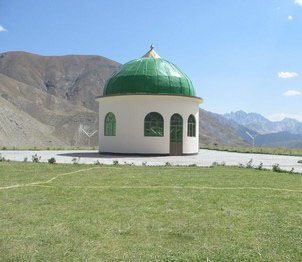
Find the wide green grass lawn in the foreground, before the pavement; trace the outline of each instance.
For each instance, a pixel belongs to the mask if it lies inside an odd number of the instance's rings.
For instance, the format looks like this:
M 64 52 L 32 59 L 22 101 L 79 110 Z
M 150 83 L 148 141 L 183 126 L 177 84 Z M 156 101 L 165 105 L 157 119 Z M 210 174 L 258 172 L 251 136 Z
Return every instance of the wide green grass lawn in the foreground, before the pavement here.
M 0 261 L 301 261 L 301 225 L 297 174 L 0 163 Z

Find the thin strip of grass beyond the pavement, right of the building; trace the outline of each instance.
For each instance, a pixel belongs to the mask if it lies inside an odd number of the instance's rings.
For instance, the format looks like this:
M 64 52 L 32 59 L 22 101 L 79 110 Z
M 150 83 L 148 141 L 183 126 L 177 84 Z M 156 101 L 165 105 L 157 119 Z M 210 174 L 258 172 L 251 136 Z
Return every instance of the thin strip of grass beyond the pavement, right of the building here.
M 217 151 L 237 152 L 237 153 L 253 153 L 253 154 L 271 154 L 285 156 L 302 156 L 302 149 L 288 148 L 269 148 L 269 147 L 231 147 L 222 145 L 203 145 L 202 149 L 210 149 Z

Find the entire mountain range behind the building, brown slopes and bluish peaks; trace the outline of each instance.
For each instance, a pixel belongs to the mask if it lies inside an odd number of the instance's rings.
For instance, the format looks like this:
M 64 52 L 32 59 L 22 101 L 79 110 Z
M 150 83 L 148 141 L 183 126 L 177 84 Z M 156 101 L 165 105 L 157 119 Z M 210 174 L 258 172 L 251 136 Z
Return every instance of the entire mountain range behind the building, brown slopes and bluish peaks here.
M 102 56 L 0 54 L 0 146 L 64 147 L 88 144 L 98 128 L 98 105 L 105 81 L 121 64 Z M 201 145 L 257 145 L 302 148 L 302 124 L 271 122 L 255 113 L 219 115 L 200 109 Z M 273 134 L 271 134 L 273 133 Z M 91 139 L 97 145 L 97 135 Z

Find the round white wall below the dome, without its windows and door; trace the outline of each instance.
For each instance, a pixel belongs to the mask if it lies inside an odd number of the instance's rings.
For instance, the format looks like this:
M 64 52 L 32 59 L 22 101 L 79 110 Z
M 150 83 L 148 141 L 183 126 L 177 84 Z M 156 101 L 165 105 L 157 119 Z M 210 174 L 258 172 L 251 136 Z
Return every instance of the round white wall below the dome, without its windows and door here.
M 108 96 L 99 101 L 100 152 L 128 154 L 169 154 L 170 118 L 178 113 L 183 118 L 183 153 L 197 153 L 199 149 L 199 104 L 194 97 L 167 95 Z M 116 136 L 104 136 L 104 120 L 108 112 L 116 118 Z M 150 112 L 158 112 L 164 118 L 163 137 L 145 137 L 144 119 Z M 188 117 L 196 118 L 196 137 L 187 136 Z

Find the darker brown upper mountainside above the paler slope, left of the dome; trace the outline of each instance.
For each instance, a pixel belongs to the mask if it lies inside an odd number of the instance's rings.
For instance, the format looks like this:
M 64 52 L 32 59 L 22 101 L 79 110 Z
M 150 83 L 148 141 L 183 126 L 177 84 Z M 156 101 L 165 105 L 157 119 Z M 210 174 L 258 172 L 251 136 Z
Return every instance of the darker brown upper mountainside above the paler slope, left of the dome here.
M 0 73 L 63 98 L 97 110 L 95 97 L 120 64 L 101 56 L 40 56 L 25 52 L 0 55 Z

